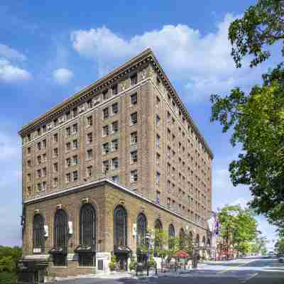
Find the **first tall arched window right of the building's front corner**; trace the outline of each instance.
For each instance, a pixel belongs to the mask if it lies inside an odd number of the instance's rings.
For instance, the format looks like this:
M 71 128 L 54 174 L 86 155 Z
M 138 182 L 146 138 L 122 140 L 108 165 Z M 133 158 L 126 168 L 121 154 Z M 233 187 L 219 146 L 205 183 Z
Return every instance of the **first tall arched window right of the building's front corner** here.
M 114 246 L 127 246 L 127 214 L 121 205 L 114 210 Z

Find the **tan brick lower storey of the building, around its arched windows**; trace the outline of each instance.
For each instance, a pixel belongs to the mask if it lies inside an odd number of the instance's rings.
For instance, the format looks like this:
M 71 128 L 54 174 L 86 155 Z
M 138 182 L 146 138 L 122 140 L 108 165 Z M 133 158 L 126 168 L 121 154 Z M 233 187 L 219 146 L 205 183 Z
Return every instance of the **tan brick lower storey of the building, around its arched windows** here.
M 79 265 L 79 257 L 76 252 L 80 244 L 80 212 L 83 204 L 92 204 L 95 209 L 95 262 L 93 267 Z M 114 211 L 117 207 L 123 207 L 126 212 L 127 236 L 124 245 L 115 245 Z M 69 224 L 67 238 L 65 266 L 55 266 L 52 251 L 54 244 L 54 217 L 57 210 L 65 210 Z M 43 278 L 52 280 L 67 276 L 78 276 L 96 273 L 109 273 L 111 256 L 116 255 L 119 262 L 118 269 L 129 271 L 131 257 L 136 259 L 137 242 L 137 217 L 143 214 L 147 219 L 147 228 L 155 228 L 157 220 L 162 229 L 168 233 L 170 225 L 175 226 L 175 234 L 180 230 L 192 232 L 198 239 L 209 238 L 206 228 L 191 222 L 187 217 L 178 214 L 163 205 L 138 195 L 121 185 L 108 179 L 94 182 L 92 185 L 80 189 L 70 189 L 58 192 L 56 195 L 46 195 L 25 204 L 26 227 L 23 234 L 23 259 L 21 261 L 22 279 L 28 279 L 28 283 Z M 45 241 L 40 249 L 41 254 L 36 254 L 33 241 L 33 219 L 35 214 L 41 214 L 44 218 Z M 158 261 L 159 262 L 159 261 Z M 160 263 L 160 262 L 159 262 Z M 159 267 L 158 263 L 158 267 Z

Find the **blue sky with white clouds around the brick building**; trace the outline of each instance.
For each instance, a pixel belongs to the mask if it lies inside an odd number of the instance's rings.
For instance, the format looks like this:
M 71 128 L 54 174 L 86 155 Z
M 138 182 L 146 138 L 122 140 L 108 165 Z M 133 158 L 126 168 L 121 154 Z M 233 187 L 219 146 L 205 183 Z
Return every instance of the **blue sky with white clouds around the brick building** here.
M 0 245 L 21 245 L 17 132 L 50 107 L 152 48 L 214 153 L 213 209 L 246 205 L 228 165 L 240 148 L 211 123 L 210 94 L 248 90 L 277 62 L 236 69 L 227 30 L 256 1 L 14 1 L 0 4 Z M 257 217 L 273 246 L 275 227 Z

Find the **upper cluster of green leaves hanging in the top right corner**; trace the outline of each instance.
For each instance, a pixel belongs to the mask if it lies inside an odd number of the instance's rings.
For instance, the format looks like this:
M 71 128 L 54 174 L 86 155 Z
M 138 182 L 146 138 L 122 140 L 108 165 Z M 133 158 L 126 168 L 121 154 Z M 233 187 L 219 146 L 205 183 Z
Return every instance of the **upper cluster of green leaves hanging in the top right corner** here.
M 236 67 L 241 67 L 246 55 L 253 56 L 251 67 L 269 58 L 268 45 L 284 39 L 284 1 L 259 0 L 255 6 L 250 6 L 242 18 L 231 23 L 229 39 Z

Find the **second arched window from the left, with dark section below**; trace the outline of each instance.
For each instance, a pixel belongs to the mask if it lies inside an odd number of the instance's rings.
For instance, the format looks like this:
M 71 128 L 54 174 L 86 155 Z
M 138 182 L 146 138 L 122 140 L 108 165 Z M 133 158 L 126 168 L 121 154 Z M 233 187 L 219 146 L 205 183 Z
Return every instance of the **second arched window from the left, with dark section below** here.
M 59 209 L 54 217 L 54 246 L 53 262 L 55 266 L 65 266 L 68 245 L 68 217 L 63 209 Z

